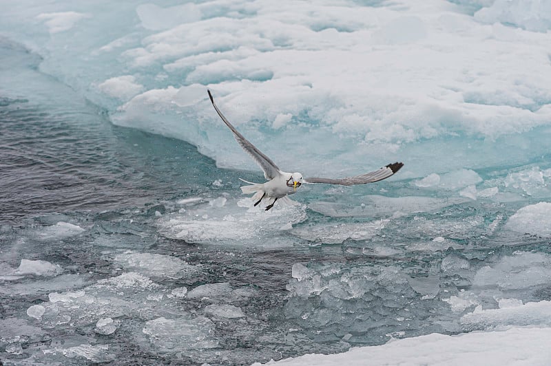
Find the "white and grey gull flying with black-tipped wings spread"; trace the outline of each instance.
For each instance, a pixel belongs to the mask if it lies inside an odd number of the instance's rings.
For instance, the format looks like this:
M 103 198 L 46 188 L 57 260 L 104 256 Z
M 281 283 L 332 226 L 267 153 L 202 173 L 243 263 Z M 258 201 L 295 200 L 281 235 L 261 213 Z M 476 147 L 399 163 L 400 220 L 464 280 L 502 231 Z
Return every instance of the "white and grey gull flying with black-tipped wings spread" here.
M 264 177 L 268 182 L 266 183 L 253 183 L 242 180 L 245 183 L 251 184 L 249 186 L 242 186 L 241 191 L 243 193 L 255 193 L 252 197 L 256 203 L 255 206 L 258 206 L 264 198 L 269 202 L 266 206 L 266 211 L 273 207 L 275 201 L 287 201 L 290 203 L 289 197 L 287 195 L 292 195 L 297 191 L 297 189 L 306 183 L 326 183 L 326 184 L 340 184 L 342 186 L 353 186 L 355 184 L 366 184 L 378 182 L 384 180 L 397 171 L 399 171 L 404 164 L 402 162 L 395 162 L 393 164 L 388 164 L 387 166 L 382 167 L 376 171 L 371 171 L 370 173 L 365 173 L 362 175 L 356 175 L 355 177 L 345 177 L 340 179 L 332 178 L 318 178 L 311 177 L 304 179 L 300 173 L 286 173 L 281 171 L 275 163 L 268 158 L 262 151 L 258 150 L 249 140 L 243 137 L 238 130 L 236 130 L 233 125 L 225 118 L 220 109 L 216 107 L 214 103 L 214 98 L 212 98 L 211 91 L 207 89 L 209 93 L 209 98 L 211 100 L 212 106 L 216 109 L 218 116 L 222 118 L 224 123 L 231 129 L 233 132 L 233 137 L 236 138 L 238 144 L 241 145 L 243 150 L 245 150 L 253 160 L 260 166 L 262 171 L 264 171 Z

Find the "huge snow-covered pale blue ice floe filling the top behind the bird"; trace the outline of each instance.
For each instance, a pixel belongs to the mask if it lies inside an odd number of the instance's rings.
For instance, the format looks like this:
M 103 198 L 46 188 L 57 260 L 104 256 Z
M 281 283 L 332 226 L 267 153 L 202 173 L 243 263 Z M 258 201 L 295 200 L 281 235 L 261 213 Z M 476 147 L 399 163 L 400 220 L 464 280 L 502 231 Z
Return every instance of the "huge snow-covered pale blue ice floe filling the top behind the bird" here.
M 0 32 L 41 54 L 43 72 L 107 108 L 114 123 L 186 140 L 219 166 L 254 168 L 220 127 L 207 87 L 280 166 L 345 174 L 404 160 L 400 177 L 422 177 L 546 153 L 537 144 L 551 131 L 550 8 L 19 1 L 0 15 Z M 428 164 L 442 146 L 449 154 Z

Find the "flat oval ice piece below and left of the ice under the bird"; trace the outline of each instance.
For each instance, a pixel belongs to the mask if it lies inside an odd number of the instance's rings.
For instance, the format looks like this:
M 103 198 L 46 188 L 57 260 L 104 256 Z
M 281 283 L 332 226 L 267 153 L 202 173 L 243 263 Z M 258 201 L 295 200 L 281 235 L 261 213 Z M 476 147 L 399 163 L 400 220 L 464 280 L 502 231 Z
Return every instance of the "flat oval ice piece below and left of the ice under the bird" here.
M 114 257 L 125 270 L 141 272 L 149 277 L 178 279 L 196 274 L 198 268 L 169 255 L 125 252 Z

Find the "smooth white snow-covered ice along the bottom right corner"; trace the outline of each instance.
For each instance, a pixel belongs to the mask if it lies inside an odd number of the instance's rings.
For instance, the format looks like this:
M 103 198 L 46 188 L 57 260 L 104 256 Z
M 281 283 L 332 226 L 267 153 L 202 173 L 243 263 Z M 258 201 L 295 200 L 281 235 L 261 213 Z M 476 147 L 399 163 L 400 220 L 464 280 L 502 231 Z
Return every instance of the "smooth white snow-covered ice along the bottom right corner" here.
M 267 365 L 549 365 L 551 328 L 511 328 L 458 336 L 429 334 L 342 354 L 307 354 Z M 253 365 L 260 365 L 255 363 Z

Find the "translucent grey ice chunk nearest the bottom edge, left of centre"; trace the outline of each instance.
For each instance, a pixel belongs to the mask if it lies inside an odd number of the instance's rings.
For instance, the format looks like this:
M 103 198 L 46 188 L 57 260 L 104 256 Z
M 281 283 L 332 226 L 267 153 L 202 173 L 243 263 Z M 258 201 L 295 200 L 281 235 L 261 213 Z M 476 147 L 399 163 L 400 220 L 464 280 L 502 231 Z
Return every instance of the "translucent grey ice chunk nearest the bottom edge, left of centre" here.
M 214 323 L 204 316 L 185 319 L 163 317 L 147 321 L 143 333 L 160 352 L 178 352 L 188 349 L 214 348 L 218 342 L 212 338 Z

